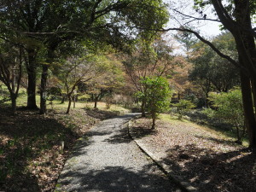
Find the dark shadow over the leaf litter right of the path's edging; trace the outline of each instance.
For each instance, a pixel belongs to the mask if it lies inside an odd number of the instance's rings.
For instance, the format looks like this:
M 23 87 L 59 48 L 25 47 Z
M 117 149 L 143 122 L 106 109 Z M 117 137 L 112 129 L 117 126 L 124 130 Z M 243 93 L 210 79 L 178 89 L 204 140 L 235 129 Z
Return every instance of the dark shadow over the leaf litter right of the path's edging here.
M 166 153 L 162 161 L 199 191 L 256 191 L 256 154 L 247 149 L 217 154 L 190 144 Z

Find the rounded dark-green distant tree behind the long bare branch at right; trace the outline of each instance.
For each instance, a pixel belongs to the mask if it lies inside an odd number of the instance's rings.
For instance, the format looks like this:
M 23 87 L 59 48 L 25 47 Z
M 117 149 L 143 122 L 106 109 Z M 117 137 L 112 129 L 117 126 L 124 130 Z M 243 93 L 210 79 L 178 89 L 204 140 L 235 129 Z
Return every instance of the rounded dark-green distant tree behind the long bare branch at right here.
M 237 60 L 235 41 L 230 33 L 222 33 L 214 38 L 212 43 Z M 189 72 L 189 79 L 200 85 L 205 94 L 205 101 L 210 91 L 226 92 L 240 83 L 239 70 L 229 61 L 219 57 L 206 44 L 199 42 L 191 48 L 189 61 L 193 67 Z

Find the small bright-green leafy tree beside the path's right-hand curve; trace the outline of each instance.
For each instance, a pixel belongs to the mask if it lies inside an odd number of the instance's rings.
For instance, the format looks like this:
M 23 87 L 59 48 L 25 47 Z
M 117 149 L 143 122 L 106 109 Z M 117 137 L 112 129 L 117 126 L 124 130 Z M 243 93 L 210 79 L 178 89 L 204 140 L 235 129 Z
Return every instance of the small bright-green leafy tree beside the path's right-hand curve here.
M 145 91 L 138 92 L 138 96 L 146 101 L 146 108 L 152 118 L 152 129 L 154 129 L 159 113 L 170 106 L 172 92 L 167 79 L 162 77 L 146 77 L 141 80 L 141 83 L 145 87 Z

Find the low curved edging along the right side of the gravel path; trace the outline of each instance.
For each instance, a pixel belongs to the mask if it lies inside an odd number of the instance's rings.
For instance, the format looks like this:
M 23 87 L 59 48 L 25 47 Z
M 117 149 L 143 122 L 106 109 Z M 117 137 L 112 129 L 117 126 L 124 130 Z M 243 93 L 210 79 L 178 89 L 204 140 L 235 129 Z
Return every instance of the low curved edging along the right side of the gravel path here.
M 181 189 L 183 189 L 186 192 L 197 192 L 198 190 L 195 187 L 190 185 L 190 183 L 183 181 L 182 178 L 178 178 L 176 175 L 174 175 L 172 173 L 172 170 L 170 170 L 170 168 L 167 168 L 168 166 L 165 163 L 160 162 L 160 160 L 157 160 L 157 157 L 153 153 L 151 153 L 148 150 L 148 148 L 146 148 L 144 146 L 144 143 L 138 141 L 135 137 L 132 136 L 132 134 L 131 134 L 131 122 L 132 122 L 132 120 L 138 119 L 140 117 L 141 117 L 141 115 L 138 115 L 135 118 L 130 119 L 129 122 L 126 123 L 126 126 L 128 128 L 129 137 L 131 137 L 131 139 L 137 144 L 138 148 L 140 148 L 143 151 L 144 154 L 146 154 L 151 160 L 153 160 L 154 163 L 160 168 L 160 170 L 162 172 L 164 172 L 170 180 L 172 180 L 174 183 L 177 183 L 177 185 Z

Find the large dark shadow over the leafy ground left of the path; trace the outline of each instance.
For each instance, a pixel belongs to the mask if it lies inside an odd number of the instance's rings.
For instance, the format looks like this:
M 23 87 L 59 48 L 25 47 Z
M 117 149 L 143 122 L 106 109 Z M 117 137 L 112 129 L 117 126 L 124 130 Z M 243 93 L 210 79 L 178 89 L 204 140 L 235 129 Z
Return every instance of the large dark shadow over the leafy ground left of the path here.
M 0 110 L 0 191 L 40 191 L 54 185 L 54 181 L 39 175 L 47 174 L 47 167 L 55 167 L 55 153 L 61 141 L 68 148 L 76 139 L 72 130 L 56 119 L 39 115 L 38 111 L 18 111 L 9 115 L 9 108 Z M 48 152 L 54 153 L 47 158 Z M 57 154 L 56 154 L 57 155 Z M 39 159 L 41 161 L 39 161 Z M 36 160 L 36 161 L 34 161 Z M 37 165 L 33 165 L 36 162 Z M 30 166 L 30 168 L 28 168 Z M 34 167 L 34 168 L 32 168 Z M 41 171 L 32 173 L 34 170 Z

